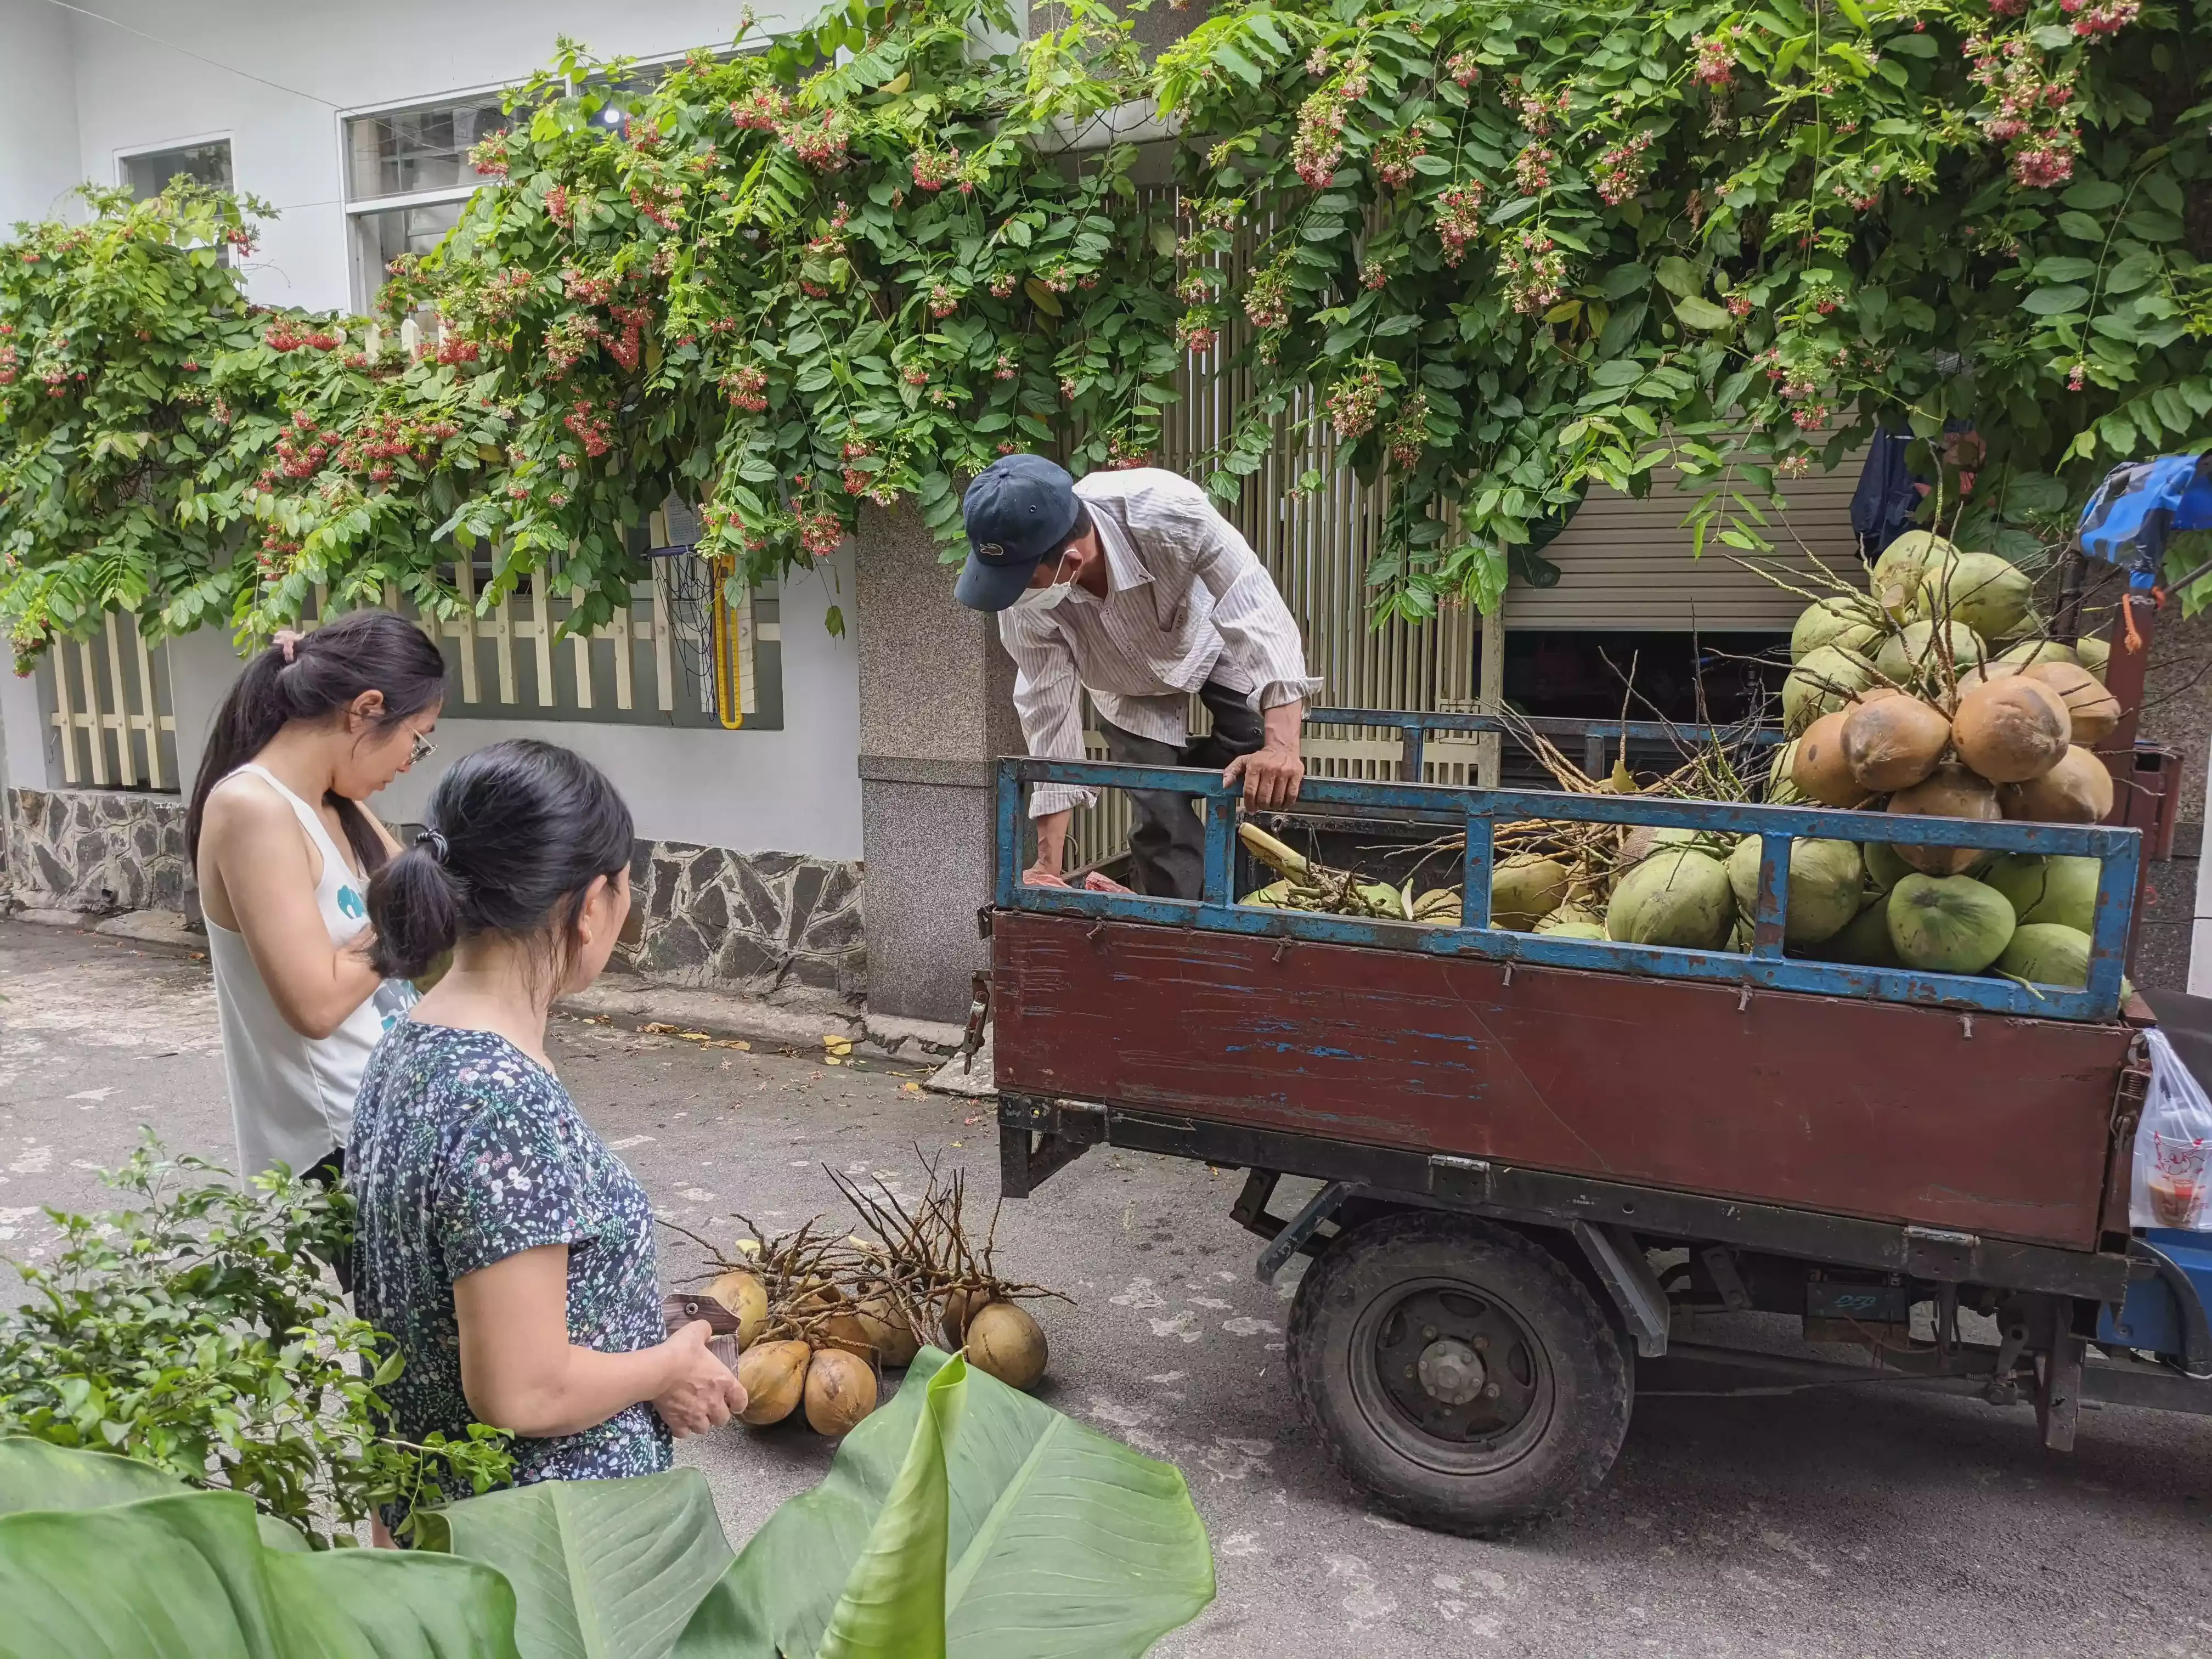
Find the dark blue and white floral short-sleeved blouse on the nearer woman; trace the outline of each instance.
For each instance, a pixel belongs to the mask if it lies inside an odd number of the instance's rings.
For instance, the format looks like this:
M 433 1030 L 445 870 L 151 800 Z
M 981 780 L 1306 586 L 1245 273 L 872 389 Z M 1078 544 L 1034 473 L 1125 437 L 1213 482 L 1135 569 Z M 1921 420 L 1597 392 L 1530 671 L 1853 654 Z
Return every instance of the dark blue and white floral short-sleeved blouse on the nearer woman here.
M 361 1077 L 345 1175 L 361 1208 L 354 1310 L 407 1360 L 383 1389 L 407 1440 L 467 1431 L 453 1281 L 522 1250 L 568 1245 L 577 1347 L 630 1354 L 664 1340 L 646 1190 L 560 1079 L 507 1037 L 394 1024 Z M 668 1427 L 646 1402 L 582 1433 L 518 1438 L 513 1455 L 515 1484 L 672 1462 Z

